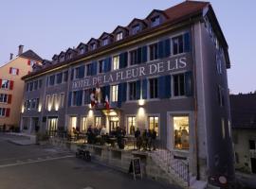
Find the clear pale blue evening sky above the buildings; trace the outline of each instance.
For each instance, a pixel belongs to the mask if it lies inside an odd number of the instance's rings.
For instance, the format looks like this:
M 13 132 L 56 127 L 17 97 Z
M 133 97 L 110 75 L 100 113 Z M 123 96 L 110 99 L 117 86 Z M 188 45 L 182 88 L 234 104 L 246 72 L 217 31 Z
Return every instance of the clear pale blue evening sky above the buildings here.
M 127 26 L 152 9 L 167 9 L 182 0 L 1 0 L 0 65 L 17 54 L 18 45 L 51 60 L 68 47 L 99 38 L 103 31 Z M 210 1 L 229 43 L 231 93 L 256 90 L 256 1 Z

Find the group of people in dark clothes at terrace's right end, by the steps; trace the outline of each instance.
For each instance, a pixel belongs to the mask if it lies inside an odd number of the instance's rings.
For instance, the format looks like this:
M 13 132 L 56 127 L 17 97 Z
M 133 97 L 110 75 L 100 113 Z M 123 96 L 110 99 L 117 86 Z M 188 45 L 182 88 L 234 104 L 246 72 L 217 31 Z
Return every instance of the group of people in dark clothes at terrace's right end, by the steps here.
M 144 129 L 142 134 L 137 128 L 135 131 L 136 146 L 140 150 L 141 147 L 143 150 L 155 150 L 156 148 L 156 131 L 155 129 Z

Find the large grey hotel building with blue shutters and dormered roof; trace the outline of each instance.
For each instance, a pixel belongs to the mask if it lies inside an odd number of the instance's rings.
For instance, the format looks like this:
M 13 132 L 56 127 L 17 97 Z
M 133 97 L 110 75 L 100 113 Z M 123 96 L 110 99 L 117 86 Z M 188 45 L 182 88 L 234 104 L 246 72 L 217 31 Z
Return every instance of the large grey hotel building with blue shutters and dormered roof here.
M 210 3 L 154 9 L 23 77 L 20 128 L 155 129 L 192 176 L 227 185 L 234 179 L 228 68 L 228 43 Z

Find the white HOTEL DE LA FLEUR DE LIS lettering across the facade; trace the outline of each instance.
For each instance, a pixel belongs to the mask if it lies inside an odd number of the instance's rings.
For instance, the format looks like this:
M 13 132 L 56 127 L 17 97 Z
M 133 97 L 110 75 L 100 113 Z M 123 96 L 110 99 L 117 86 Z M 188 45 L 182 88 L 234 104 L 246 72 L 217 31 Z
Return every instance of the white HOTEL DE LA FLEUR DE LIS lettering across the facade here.
M 165 60 L 137 64 L 129 68 L 123 68 L 97 76 L 85 77 L 74 80 L 72 82 L 72 90 L 94 88 L 97 83 L 100 85 L 110 85 L 137 78 L 165 76 L 177 71 L 190 70 L 191 64 L 188 63 L 188 60 L 191 61 L 190 56 L 183 55 Z

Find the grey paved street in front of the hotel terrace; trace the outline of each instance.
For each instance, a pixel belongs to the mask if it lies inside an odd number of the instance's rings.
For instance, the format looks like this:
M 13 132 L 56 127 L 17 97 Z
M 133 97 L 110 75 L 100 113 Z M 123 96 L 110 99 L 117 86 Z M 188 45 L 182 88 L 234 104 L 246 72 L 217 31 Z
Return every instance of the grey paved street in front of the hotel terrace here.
M 1 189 L 174 189 L 132 177 L 51 146 L 17 146 L 0 134 Z

